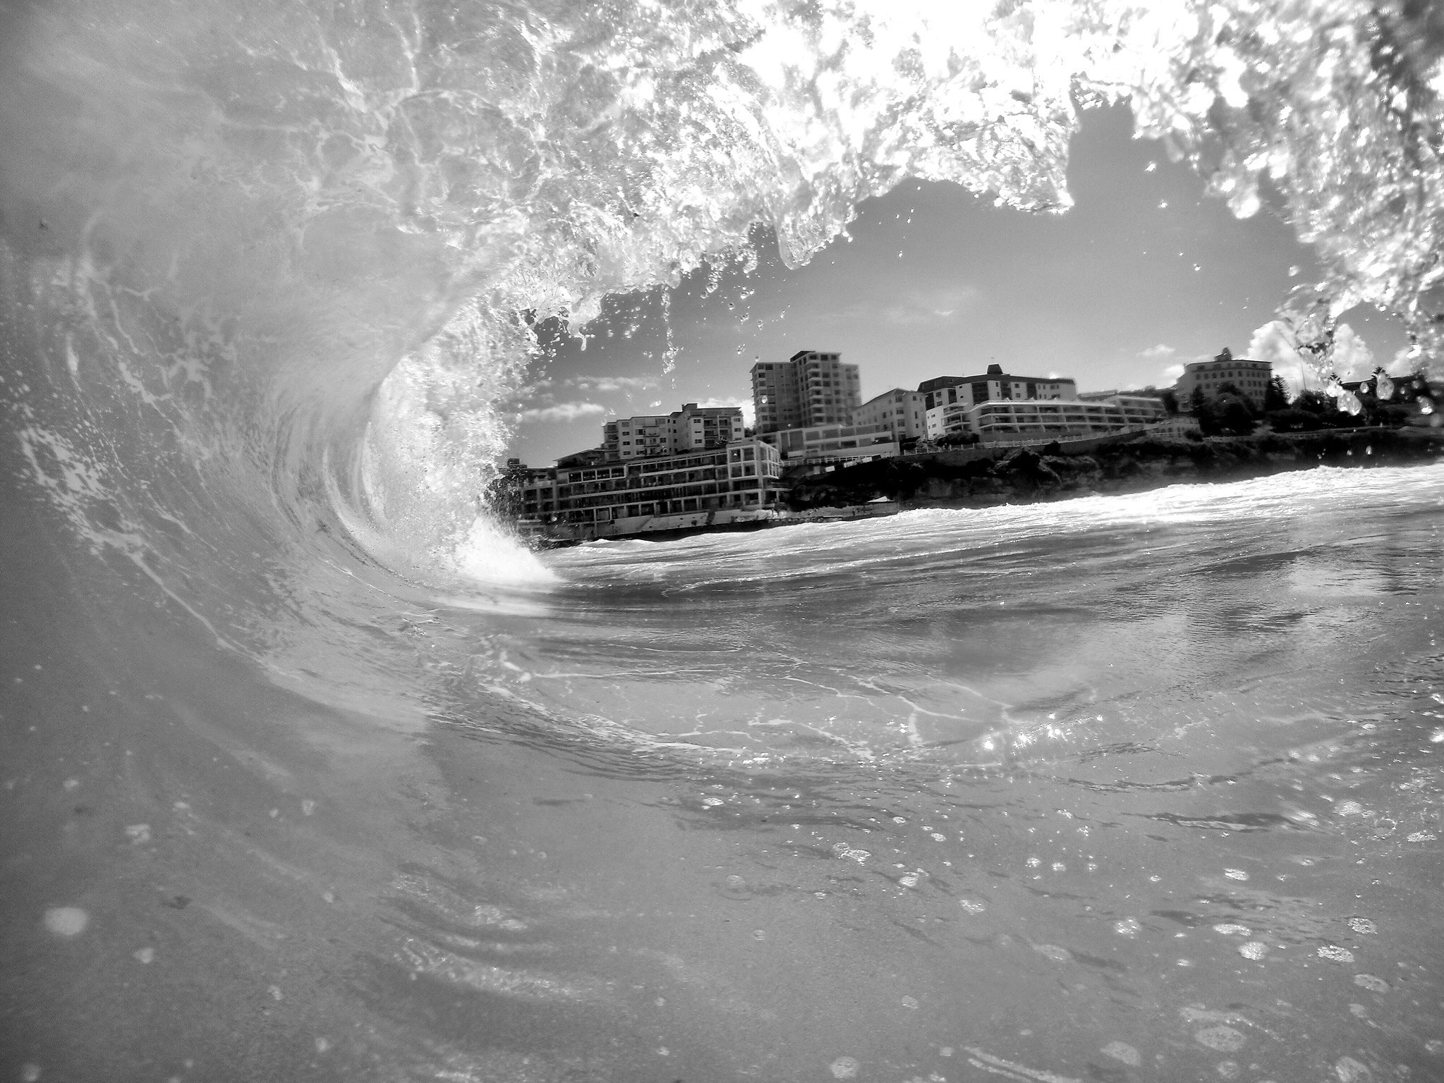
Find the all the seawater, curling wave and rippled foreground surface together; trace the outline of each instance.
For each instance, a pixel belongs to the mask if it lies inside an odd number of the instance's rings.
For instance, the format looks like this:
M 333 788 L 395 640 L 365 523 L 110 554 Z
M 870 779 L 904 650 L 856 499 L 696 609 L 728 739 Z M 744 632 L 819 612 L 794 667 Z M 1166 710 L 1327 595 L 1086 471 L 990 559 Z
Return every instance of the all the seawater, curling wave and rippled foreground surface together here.
M 1418 4 L 0 6 L 0 1076 L 1444 1080 L 1444 466 L 536 554 L 534 329 L 1126 101 L 1440 374 Z M 666 360 L 663 364 L 670 364 Z

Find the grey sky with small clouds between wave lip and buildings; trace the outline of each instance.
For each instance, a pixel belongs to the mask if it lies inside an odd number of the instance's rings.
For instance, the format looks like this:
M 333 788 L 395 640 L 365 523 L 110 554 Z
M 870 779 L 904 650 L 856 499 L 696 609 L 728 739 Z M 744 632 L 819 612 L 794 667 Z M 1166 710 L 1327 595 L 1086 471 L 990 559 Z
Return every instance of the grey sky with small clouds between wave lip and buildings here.
M 1288 290 L 1318 276 L 1281 199 L 1238 219 L 1203 188 L 1157 142 L 1134 139 L 1132 113 L 1115 105 L 1083 114 L 1066 214 L 905 180 L 793 270 L 758 230 L 751 274 L 728 267 L 709 293 L 703 269 L 666 297 L 615 297 L 552 344 L 514 403 L 508 453 L 546 465 L 595 448 L 609 417 L 692 401 L 744 406 L 751 422 L 752 364 L 800 349 L 859 365 L 864 401 L 989 364 L 1071 377 L 1080 391 L 1165 387 L 1223 347 L 1248 355 Z M 1406 345 L 1385 313 L 1356 309 L 1344 322 L 1380 362 Z

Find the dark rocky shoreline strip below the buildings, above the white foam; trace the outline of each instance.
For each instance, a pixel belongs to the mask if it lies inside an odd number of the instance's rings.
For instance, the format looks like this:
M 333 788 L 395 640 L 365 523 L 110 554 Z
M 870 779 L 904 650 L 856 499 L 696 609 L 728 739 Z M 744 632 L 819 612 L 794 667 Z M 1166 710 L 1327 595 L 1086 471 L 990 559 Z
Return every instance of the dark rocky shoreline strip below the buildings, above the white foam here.
M 1051 452 L 1051 453 L 1050 453 Z M 1057 445 L 999 449 L 949 461 L 949 452 L 898 456 L 803 478 L 794 511 L 855 507 L 878 497 L 917 508 L 991 508 L 1074 497 L 1147 492 L 1175 484 L 1248 481 L 1315 466 L 1409 466 L 1444 461 L 1444 429 L 1349 429 L 1308 433 L 1138 439 L 1069 455 Z

